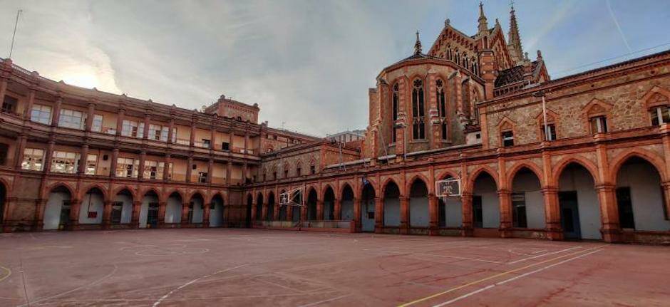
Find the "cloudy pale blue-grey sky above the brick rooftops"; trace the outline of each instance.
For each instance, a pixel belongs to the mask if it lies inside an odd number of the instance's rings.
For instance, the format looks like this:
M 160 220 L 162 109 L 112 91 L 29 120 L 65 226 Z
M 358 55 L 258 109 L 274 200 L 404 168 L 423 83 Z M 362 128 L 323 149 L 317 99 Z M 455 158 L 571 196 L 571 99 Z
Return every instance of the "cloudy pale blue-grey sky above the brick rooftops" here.
M 552 78 L 670 49 L 670 1 L 515 0 L 522 46 Z M 41 76 L 200 109 L 258 103 L 275 128 L 324 136 L 368 125 L 368 88 L 424 51 L 445 19 L 475 34 L 478 1 L 0 0 L 0 57 Z M 510 1 L 484 1 L 507 29 Z M 632 53 L 632 54 L 631 54 Z

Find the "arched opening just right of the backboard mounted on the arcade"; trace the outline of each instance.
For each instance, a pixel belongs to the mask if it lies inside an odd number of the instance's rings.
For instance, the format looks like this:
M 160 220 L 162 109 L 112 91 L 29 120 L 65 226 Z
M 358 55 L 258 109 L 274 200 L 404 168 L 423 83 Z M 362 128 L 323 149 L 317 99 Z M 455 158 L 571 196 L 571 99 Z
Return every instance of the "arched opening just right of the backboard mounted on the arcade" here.
M 500 202 L 495 179 L 488 172 L 480 172 L 473 185 L 473 227 L 500 227 Z

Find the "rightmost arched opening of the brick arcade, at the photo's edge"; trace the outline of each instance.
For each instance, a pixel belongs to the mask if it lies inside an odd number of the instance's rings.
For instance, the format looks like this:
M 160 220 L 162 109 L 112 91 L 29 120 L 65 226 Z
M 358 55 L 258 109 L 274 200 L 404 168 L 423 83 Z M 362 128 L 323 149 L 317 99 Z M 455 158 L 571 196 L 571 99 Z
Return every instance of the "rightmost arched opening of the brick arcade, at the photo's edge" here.
M 630 157 L 617 172 L 617 207 L 622 229 L 668 231 L 661 175 L 641 157 Z

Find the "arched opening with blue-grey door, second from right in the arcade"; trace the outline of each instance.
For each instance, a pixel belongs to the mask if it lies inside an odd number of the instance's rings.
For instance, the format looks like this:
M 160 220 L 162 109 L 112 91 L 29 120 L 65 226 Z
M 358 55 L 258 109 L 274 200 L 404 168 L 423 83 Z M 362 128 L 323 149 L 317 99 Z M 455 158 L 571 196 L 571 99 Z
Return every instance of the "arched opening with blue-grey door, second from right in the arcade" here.
M 576 162 L 558 179 L 558 202 L 565 239 L 602 239 L 600 202 L 591 173 Z

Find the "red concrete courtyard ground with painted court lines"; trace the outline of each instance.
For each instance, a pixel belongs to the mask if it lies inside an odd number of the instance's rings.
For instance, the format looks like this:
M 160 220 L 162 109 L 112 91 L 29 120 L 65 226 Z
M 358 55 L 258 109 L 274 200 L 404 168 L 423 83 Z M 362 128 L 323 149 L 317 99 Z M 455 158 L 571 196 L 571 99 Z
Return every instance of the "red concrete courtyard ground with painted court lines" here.
M 669 306 L 670 247 L 155 229 L 0 235 L 0 306 Z

